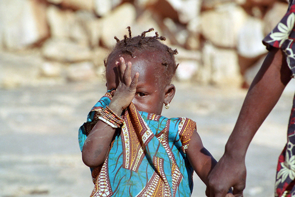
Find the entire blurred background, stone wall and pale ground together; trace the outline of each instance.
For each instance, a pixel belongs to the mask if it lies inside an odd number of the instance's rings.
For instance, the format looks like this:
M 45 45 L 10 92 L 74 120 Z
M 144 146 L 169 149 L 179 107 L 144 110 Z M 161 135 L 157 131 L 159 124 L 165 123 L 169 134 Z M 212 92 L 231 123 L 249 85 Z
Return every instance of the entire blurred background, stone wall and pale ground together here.
M 127 26 L 133 36 L 153 27 L 177 48 L 176 94 L 162 115 L 196 121 L 218 160 L 267 53 L 261 40 L 286 10 L 278 0 L 0 0 L 0 196 L 89 196 L 77 130 Z M 294 82 L 249 146 L 244 196 L 273 196 Z M 192 196 L 204 196 L 194 183 Z

